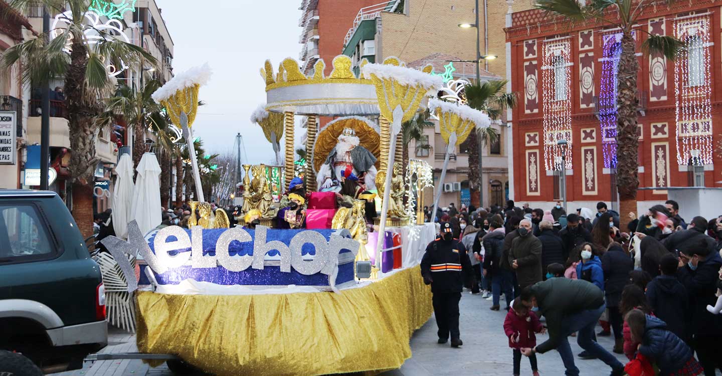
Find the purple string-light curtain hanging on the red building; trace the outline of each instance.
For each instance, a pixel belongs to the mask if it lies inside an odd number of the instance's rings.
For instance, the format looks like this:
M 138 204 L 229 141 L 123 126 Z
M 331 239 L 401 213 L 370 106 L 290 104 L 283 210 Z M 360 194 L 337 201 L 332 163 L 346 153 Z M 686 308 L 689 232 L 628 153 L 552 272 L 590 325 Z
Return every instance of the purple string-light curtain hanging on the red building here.
M 604 168 L 617 168 L 617 71 L 622 54 L 621 33 L 602 36 L 599 128 Z

